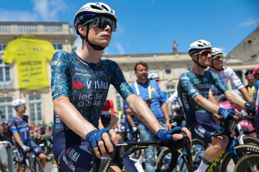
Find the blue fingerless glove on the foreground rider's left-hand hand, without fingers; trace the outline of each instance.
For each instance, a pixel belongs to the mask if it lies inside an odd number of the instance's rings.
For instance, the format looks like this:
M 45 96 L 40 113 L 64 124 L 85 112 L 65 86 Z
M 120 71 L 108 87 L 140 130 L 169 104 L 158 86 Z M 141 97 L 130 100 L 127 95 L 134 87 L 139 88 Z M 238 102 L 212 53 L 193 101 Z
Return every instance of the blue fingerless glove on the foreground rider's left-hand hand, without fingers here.
M 86 139 L 92 147 L 95 147 L 98 142 L 102 140 L 102 133 L 108 133 L 110 129 L 111 127 L 103 128 L 101 130 L 93 130 L 86 135 Z

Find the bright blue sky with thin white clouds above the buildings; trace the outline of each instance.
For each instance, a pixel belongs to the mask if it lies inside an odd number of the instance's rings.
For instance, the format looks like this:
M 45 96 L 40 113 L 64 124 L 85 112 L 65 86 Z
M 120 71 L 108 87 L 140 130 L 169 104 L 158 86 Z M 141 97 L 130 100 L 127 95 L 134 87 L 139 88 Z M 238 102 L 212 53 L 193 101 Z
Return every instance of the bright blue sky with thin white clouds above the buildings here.
M 68 21 L 82 0 L 0 0 L 0 21 Z M 116 11 L 117 31 L 106 54 L 179 52 L 205 39 L 228 54 L 259 25 L 258 0 L 102 1 Z M 75 34 L 75 33 L 74 33 Z M 78 38 L 75 45 L 81 45 Z

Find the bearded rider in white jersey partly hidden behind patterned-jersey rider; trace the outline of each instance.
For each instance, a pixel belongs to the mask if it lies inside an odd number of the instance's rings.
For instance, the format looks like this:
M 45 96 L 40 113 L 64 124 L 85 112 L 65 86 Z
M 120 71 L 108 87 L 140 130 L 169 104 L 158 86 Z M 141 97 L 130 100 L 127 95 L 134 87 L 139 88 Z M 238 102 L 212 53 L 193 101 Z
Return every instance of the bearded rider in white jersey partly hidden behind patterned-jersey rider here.
M 230 67 L 223 67 L 223 52 L 220 48 L 212 48 L 212 60 L 210 69 L 208 71 L 216 72 L 220 79 L 226 83 L 231 80 L 231 82 L 235 85 L 235 87 L 240 91 L 240 93 L 243 95 L 244 99 L 246 101 L 253 101 L 251 96 L 249 95 L 247 89 L 243 85 L 242 81 L 239 79 L 235 71 L 231 69 Z M 218 89 L 215 87 L 215 85 L 212 85 L 209 91 L 209 100 L 213 102 L 212 96 L 215 97 L 217 102 L 220 100 L 221 97 L 224 95 L 218 91 Z

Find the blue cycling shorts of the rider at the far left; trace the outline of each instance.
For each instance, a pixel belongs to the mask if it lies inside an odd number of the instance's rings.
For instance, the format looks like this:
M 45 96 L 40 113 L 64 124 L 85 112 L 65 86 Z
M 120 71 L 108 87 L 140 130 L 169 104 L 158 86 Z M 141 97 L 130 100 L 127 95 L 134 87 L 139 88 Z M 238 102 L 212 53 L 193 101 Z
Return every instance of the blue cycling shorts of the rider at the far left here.
M 37 144 L 35 142 L 33 142 L 31 139 L 25 140 L 23 144 L 26 146 L 29 146 L 30 148 L 35 147 L 35 148 L 33 148 L 33 152 L 35 153 L 36 156 L 39 156 L 40 153 L 44 153 L 43 150 L 41 149 L 41 147 L 37 146 Z M 18 152 L 20 152 L 22 150 L 20 145 L 18 145 L 17 143 L 16 143 L 16 147 L 18 149 Z M 16 155 L 19 159 L 19 166 L 26 165 L 25 157 L 26 157 L 27 152 L 22 151 L 22 154 L 23 154 L 23 157 L 21 157 L 19 153 L 17 153 L 17 155 Z

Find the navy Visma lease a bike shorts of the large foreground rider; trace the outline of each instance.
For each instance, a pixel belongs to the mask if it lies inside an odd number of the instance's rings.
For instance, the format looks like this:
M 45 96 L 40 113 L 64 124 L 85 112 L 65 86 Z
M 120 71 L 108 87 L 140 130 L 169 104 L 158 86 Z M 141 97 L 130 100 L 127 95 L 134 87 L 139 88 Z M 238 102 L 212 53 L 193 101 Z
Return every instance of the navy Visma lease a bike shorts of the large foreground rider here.
M 72 130 L 60 132 L 54 138 L 53 154 L 58 166 L 63 171 L 87 172 L 92 169 L 93 158 L 88 150 L 89 142 L 75 134 Z M 106 158 L 102 157 L 101 161 Z M 123 159 L 125 171 L 137 169 L 128 157 Z

